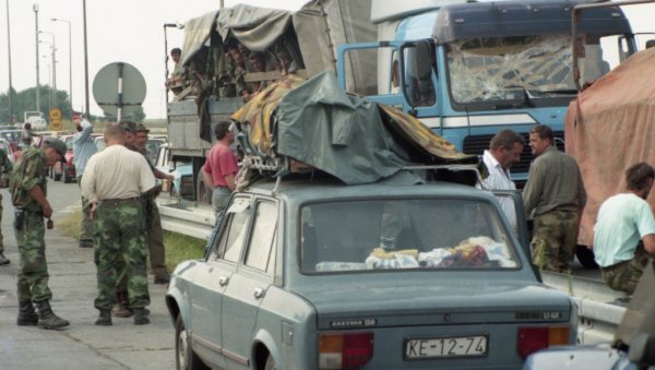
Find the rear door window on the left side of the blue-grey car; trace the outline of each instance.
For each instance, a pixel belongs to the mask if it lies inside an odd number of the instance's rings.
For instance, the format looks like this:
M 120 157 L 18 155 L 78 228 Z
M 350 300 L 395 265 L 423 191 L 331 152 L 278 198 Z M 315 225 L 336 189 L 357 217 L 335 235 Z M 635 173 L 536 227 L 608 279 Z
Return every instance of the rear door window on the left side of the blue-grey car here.
M 272 271 L 272 251 L 275 250 L 277 207 L 273 202 L 259 202 L 254 212 L 252 237 L 248 246 L 246 265 L 263 271 Z

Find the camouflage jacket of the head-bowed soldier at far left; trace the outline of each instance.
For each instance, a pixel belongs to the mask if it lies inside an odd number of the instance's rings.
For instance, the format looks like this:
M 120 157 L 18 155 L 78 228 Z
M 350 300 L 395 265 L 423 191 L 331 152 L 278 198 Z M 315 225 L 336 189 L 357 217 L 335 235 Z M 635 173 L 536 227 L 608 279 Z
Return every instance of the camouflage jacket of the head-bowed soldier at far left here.
M 16 208 L 43 211 L 40 205 L 28 194 L 29 189 L 39 186 L 47 195 L 46 155 L 44 151 L 29 147 L 16 162 L 9 180 L 11 202 Z

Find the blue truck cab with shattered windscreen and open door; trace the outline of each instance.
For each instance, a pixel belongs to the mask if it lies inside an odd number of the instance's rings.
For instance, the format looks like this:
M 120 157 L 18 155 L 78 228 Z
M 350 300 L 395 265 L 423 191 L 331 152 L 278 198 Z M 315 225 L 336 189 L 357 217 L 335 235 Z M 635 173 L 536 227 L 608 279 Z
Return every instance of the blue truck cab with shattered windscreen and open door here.
M 585 11 L 573 41 L 572 8 L 590 0 L 409 2 L 373 0 L 381 40 L 338 47 L 340 83 L 350 73 L 344 61 L 377 58 L 377 86 L 353 93 L 410 112 L 467 154 L 483 154 L 502 129 L 527 139 L 538 123 L 563 150 L 564 115 L 577 93 L 573 47 L 582 51 L 582 81 L 636 51 L 618 7 Z M 520 187 L 533 159 L 529 146 L 523 154 L 512 168 Z

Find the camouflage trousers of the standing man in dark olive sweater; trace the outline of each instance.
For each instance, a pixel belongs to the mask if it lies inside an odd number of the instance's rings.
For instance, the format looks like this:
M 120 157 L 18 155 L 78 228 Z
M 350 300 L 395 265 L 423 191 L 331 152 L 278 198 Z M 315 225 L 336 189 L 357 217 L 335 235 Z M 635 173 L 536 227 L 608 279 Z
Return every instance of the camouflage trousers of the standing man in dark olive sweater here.
M 576 212 L 550 211 L 535 216 L 531 247 L 537 267 L 560 273 L 569 271 L 576 243 Z

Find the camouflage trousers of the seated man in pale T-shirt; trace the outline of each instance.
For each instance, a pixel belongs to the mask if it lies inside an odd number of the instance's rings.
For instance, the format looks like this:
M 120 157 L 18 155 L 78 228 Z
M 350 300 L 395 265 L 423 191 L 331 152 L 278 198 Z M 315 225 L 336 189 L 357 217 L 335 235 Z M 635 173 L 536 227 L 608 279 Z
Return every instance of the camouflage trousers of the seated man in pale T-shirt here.
M 644 273 L 644 268 L 646 268 L 650 259 L 651 256 L 640 241 L 634 250 L 634 258 L 632 258 L 632 260 L 619 262 L 607 267 L 600 267 L 603 279 L 608 287 L 631 295 L 634 293 L 634 288 L 636 288 L 636 284 Z

